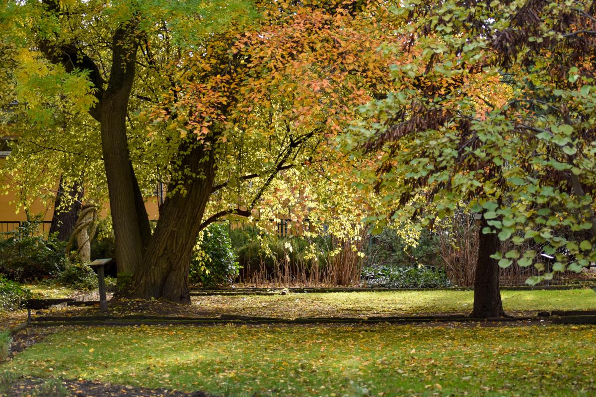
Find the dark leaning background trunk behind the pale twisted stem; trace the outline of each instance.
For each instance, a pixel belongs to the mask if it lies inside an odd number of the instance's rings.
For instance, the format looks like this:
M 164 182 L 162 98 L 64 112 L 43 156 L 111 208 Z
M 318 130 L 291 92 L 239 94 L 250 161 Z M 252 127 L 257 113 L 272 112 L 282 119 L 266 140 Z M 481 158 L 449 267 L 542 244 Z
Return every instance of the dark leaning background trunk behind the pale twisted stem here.
M 69 195 L 74 198 L 75 201 L 72 205 L 67 208 L 63 208 L 64 195 Z M 83 190 L 80 189 L 80 185 L 76 184 L 69 190 L 64 192 L 63 180 L 60 177 L 60 183 L 58 184 L 58 193 L 56 193 L 56 199 L 54 201 L 54 214 L 52 215 L 52 224 L 49 227 L 49 234 L 52 235 L 57 233 L 57 238 L 60 241 L 68 241 L 73 230 L 75 230 L 75 224 L 77 218 L 79 218 L 79 211 L 81 207 L 81 200 L 83 198 Z

